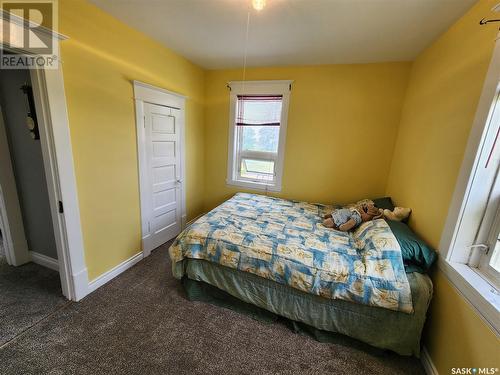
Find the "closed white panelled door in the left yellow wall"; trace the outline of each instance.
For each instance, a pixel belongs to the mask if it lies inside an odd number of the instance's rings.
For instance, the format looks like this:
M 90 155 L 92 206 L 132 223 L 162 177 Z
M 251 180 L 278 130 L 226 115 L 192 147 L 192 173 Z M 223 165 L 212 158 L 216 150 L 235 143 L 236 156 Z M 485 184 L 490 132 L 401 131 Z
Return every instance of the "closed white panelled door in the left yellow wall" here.
M 147 223 L 143 222 L 145 256 L 181 231 L 180 114 L 178 109 L 144 103 L 147 197 L 143 203 L 149 203 Z

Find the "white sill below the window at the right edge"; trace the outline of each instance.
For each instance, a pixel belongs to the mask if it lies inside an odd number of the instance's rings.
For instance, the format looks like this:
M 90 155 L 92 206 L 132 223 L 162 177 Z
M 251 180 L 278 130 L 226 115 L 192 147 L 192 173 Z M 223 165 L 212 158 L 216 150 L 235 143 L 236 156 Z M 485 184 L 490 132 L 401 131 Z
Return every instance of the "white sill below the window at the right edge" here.
M 438 265 L 484 321 L 500 335 L 500 295 L 494 292 L 494 287 L 466 264 L 439 258 Z

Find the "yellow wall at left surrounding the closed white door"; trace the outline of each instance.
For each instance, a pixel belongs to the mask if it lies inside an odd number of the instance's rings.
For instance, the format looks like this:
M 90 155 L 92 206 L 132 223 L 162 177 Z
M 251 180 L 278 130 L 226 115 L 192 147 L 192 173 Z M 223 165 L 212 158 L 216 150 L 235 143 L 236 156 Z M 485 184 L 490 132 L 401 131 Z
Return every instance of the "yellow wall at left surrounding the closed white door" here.
M 131 80 L 187 95 L 188 219 L 203 208 L 204 71 L 84 1 L 59 2 L 85 260 L 92 280 L 141 249 Z

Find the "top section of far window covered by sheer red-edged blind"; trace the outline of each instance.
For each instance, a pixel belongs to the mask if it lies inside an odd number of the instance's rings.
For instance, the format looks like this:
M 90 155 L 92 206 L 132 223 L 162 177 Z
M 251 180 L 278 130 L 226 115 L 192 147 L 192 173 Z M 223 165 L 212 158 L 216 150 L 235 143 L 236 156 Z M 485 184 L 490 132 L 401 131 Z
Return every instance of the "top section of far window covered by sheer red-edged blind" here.
M 237 125 L 279 125 L 281 96 L 238 96 Z

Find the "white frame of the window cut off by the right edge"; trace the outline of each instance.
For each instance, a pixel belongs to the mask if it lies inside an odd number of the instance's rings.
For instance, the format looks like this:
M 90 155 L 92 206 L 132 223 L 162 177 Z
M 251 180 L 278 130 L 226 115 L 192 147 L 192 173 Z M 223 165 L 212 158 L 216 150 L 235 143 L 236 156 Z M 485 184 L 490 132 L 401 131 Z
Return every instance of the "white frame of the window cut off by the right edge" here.
M 488 205 L 496 171 L 484 168 L 496 137 L 500 110 L 500 33 L 495 42 L 474 122 L 469 133 L 445 227 L 439 243 L 438 267 L 479 316 L 500 335 L 500 295 L 478 265 L 471 245 L 484 243 L 495 222 Z M 497 109 L 497 110 L 495 110 Z M 486 237 L 485 237 L 486 236 Z M 484 262 L 484 256 L 482 257 Z

